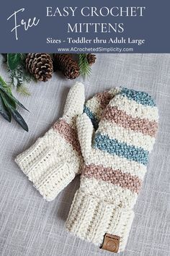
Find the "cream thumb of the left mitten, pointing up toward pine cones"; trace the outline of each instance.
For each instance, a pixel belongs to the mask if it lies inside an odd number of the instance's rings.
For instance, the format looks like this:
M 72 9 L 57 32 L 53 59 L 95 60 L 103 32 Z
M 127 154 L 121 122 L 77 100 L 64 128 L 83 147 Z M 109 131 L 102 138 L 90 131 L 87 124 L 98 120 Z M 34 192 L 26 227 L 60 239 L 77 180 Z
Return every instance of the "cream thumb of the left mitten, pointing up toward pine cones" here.
M 81 82 L 76 82 L 71 90 L 69 90 L 63 116 L 74 117 L 82 114 L 84 109 L 84 101 L 84 85 Z

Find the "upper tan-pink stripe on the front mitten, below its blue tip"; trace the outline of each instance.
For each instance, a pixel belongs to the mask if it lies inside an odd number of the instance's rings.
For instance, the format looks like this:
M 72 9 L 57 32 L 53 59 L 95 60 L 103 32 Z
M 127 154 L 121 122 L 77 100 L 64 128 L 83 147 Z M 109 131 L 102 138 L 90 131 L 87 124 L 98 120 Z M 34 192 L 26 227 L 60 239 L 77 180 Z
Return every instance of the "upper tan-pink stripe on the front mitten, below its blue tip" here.
M 133 118 L 119 110 L 117 107 L 108 106 L 103 114 L 104 119 L 114 121 L 116 124 L 126 128 L 132 129 L 135 132 L 142 132 L 143 135 L 156 136 L 158 124 L 156 121 L 148 121 L 148 119 Z

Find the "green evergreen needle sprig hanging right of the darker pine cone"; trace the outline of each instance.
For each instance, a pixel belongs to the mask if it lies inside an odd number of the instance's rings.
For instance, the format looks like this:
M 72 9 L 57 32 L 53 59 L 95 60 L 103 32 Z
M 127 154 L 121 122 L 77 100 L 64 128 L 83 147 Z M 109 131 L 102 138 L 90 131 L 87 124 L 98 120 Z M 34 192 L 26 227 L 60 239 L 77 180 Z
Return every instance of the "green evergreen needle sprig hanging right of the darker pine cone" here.
M 91 67 L 87 61 L 87 54 L 79 54 L 80 74 L 85 78 L 91 74 Z

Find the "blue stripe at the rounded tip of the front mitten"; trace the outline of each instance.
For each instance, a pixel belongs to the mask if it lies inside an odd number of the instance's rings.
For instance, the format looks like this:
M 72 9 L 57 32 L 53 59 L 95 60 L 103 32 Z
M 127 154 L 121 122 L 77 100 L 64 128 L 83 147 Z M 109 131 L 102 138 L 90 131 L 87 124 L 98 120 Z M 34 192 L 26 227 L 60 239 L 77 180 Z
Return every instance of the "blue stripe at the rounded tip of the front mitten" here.
M 156 106 L 153 98 L 151 98 L 151 95 L 148 95 L 148 93 L 122 88 L 120 94 L 125 95 L 130 100 L 136 101 L 144 106 Z

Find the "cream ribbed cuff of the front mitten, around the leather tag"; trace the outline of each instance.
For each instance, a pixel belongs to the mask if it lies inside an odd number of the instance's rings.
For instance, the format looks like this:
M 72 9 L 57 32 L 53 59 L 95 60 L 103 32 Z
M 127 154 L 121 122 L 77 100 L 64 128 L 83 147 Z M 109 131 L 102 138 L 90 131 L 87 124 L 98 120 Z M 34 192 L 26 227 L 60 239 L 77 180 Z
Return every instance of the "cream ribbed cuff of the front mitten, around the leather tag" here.
M 71 205 L 66 229 L 99 247 L 106 233 L 120 236 L 118 252 L 121 252 L 125 249 L 133 218 L 133 210 L 115 207 L 79 189 Z

